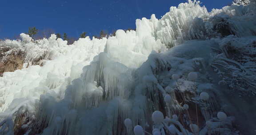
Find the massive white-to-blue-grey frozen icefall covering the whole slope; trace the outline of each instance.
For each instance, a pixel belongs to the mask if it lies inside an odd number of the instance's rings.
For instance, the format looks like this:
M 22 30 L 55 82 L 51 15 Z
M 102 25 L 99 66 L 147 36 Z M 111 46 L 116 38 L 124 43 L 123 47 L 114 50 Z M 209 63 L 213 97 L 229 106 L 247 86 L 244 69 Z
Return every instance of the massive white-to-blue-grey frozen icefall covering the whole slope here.
M 2 41 L 26 64 L 0 77 L 0 135 L 254 135 L 255 13 L 188 0 L 108 39 Z

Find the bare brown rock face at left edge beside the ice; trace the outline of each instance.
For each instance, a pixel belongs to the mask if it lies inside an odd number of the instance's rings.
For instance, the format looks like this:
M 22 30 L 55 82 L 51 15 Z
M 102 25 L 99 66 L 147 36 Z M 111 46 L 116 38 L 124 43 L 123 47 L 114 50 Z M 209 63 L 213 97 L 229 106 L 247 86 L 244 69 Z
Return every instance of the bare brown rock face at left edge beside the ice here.
M 0 76 L 6 71 L 21 69 L 24 64 L 24 53 L 10 47 L 0 47 Z

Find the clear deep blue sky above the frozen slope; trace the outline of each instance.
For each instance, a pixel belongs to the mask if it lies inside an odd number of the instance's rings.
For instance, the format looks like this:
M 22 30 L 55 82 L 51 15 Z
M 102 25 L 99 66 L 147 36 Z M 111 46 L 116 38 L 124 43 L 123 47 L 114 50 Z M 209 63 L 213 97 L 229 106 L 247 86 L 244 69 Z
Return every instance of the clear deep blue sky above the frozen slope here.
M 137 18 L 160 18 L 187 0 L 1 0 L 0 39 L 13 38 L 29 27 L 53 29 L 78 37 L 100 30 L 135 28 Z M 201 0 L 208 11 L 231 4 L 232 0 Z

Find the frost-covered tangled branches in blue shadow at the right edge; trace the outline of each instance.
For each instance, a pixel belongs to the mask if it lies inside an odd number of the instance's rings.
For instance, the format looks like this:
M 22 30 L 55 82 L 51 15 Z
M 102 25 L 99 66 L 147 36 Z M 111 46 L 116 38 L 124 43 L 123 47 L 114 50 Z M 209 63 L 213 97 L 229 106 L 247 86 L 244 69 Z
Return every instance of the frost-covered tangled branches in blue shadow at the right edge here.
M 250 91 L 256 95 L 255 67 L 255 41 L 240 39 L 230 36 L 218 41 L 220 50 L 213 59 L 212 67 L 218 73 L 222 81 L 228 84 L 230 90 L 239 88 L 240 92 Z

